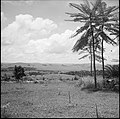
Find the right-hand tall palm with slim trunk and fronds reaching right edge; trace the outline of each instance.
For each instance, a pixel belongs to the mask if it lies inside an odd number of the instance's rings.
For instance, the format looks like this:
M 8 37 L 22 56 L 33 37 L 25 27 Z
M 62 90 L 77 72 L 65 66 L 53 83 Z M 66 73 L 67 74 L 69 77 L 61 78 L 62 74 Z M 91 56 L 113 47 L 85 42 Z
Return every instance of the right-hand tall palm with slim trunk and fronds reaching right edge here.
M 118 27 L 119 25 L 117 24 L 118 23 L 118 17 L 115 18 L 115 13 L 113 13 L 119 7 L 112 6 L 112 7 L 107 8 L 106 5 L 107 4 L 105 2 L 101 1 L 100 5 L 98 6 L 98 10 L 97 10 L 97 13 L 98 13 L 97 17 L 98 17 L 98 19 L 101 18 L 101 22 L 100 22 L 100 26 L 99 26 L 99 30 L 101 32 L 99 32 L 99 35 L 101 36 L 101 44 L 102 44 L 102 52 L 101 53 L 102 53 L 103 79 L 104 79 L 104 55 L 103 55 L 104 44 L 103 44 L 103 42 L 105 40 L 107 43 L 110 43 L 112 45 L 117 44 L 116 42 L 114 42 L 114 39 L 111 39 L 109 36 L 106 35 L 104 29 L 111 32 L 110 35 L 116 35 L 116 38 L 119 37 L 119 33 L 118 33 L 119 32 L 119 27 Z M 115 21 L 117 21 L 117 22 L 115 23 Z

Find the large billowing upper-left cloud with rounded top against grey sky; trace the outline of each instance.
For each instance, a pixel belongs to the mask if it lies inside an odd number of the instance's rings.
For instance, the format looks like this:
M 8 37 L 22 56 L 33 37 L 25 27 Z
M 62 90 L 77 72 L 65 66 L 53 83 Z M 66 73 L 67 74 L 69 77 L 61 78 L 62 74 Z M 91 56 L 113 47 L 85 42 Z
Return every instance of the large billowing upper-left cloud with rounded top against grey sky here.
M 20 14 L 15 21 L 2 30 L 2 45 L 22 45 L 50 34 L 57 28 L 50 19 L 33 18 L 29 14 Z

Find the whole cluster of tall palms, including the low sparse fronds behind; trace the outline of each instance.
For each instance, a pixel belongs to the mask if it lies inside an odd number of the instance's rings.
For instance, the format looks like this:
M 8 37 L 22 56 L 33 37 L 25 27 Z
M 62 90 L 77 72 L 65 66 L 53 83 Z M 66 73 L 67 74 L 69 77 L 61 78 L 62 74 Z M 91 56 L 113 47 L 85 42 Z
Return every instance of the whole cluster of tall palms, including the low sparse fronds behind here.
M 69 5 L 75 9 L 77 9 L 78 13 L 66 13 L 74 22 L 83 22 L 84 26 L 80 27 L 76 30 L 75 34 L 71 36 L 71 38 L 81 34 L 81 37 L 77 40 L 75 45 L 73 46 L 73 52 L 78 52 L 79 50 L 88 51 L 88 54 L 85 54 L 79 59 L 83 59 L 87 56 L 91 57 L 91 65 L 92 60 L 94 65 L 94 79 L 96 85 L 96 68 L 95 68 L 95 60 L 98 62 L 102 62 L 103 66 L 103 78 L 104 78 L 104 46 L 103 41 L 108 44 L 118 45 L 114 40 L 119 37 L 119 18 L 117 15 L 119 12 L 115 13 L 118 10 L 118 6 L 109 6 L 107 7 L 106 2 L 102 0 L 96 0 L 93 4 L 89 4 L 87 0 L 85 0 L 86 4 L 75 4 L 70 3 Z M 91 7 L 92 5 L 92 7 Z M 109 34 L 108 34 L 109 33 Z M 116 38 L 111 38 L 110 35 L 116 36 Z M 86 48 L 87 47 L 87 48 Z M 93 52 L 91 52 L 93 49 Z M 96 54 L 96 51 L 99 50 L 102 54 L 102 57 Z M 92 58 L 93 53 L 93 58 Z M 91 66 L 92 67 L 92 66 Z M 92 72 L 92 68 L 91 68 Z

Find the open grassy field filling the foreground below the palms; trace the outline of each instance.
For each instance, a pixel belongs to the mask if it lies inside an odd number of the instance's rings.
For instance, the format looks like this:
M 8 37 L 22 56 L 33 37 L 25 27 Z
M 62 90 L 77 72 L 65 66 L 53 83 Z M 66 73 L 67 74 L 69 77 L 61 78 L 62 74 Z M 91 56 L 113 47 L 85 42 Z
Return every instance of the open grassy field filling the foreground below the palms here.
M 43 84 L 1 83 L 1 104 L 9 103 L 1 114 L 13 118 L 96 118 L 97 104 L 100 117 L 119 117 L 119 93 L 81 91 L 76 86 L 79 80 L 60 81 L 59 75 L 46 75 L 50 76 L 54 80 Z

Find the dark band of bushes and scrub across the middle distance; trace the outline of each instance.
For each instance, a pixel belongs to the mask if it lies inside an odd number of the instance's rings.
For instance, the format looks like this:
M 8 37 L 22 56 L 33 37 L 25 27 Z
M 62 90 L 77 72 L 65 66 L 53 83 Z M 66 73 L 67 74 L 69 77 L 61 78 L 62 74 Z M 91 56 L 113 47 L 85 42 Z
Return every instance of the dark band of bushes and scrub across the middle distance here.
M 29 68 L 30 69 L 30 68 Z M 33 68 L 31 68 L 30 71 L 26 70 L 25 67 L 21 67 L 21 66 L 15 66 L 14 70 L 12 67 L 12 76 L 8 75 L 7 72 L 11 71 L 10 67 L 7 69 L 6 68 L 6 72 L 4 73 L 4 75 L 1 77 L 1 81 L 33 81 L 32 78 L 30 78 L 30 76 L 34 75 L 46 75 L 46 74 L 66 74 L 66 75 L 72 75 L 74 76 L 74 78 L 66 78 L 63 79 L 62 77 L 59 78 L 59 80 L 61 81 L 80 81 L 80 77 L 87 77 L 87 76 L 91 76 L 91 72 L 87 71 L 87 70 L 81 70 L 81 71 L 69 71 L 69 72 L 59 72 L 59 71 L 50 71 L 50 70 L 37 70 L 35 69 L 35 71 L 33 70 Z M 3 71 L 4 72 L 4 71 Z M 94 72 L 93 72 L 94 73 Z M 97 76 L 101 76 L 102 77 L 102 70 L 97 70 L 96 74 Z M 29 76 L 29 77 L 28 77 Z M 23 79 L 24 77 L 24 79 Z M 43 77 L 44 80 L 44 77 Z M 113 90 L 118 92 L 119 91 L 119 65 L 106 65 L 105 66 L 105 79 L 101 80 L 102 82 L 99 83 L 97 82 L 97 90 Z M 83 80 L 84 82 L 84 80 Z M 37 82 L 38 83 L 38 82 Z M 81 85 L 81 84 L 80 84 Z M 83 89 L 88 89 L 88 90 L 94 90 L 94 84 L 91 81 L 88 81 Z

